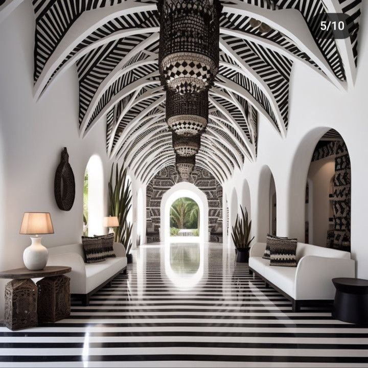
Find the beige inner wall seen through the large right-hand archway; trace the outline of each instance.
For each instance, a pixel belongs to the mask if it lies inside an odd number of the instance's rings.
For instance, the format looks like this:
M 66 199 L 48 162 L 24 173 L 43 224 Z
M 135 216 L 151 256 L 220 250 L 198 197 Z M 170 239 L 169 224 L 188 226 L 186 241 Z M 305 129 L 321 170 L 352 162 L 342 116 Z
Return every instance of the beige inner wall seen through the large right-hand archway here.
M 308 179 L 312 184 L 312 195 L 309 196 L 309 203 L 312 204 L 313 221 L 309 226 L 313 227 L 313 241 L 309 242 L 314 245 L 326 246 L 329 228 L 330 180 L 334 174 L 334 156 L 310 164 Z

